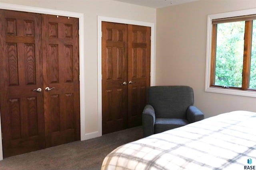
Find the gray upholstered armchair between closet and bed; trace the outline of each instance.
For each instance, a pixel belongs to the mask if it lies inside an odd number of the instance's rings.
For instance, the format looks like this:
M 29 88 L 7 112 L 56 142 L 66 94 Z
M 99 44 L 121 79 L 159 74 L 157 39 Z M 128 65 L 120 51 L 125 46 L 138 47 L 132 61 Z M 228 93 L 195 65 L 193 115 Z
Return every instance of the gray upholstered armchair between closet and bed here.
M 189 86 L 152 86 L 142 113 L 143 136 L 181 127 L 204 119 L 204 113 L 194 104 L 194 92 Z

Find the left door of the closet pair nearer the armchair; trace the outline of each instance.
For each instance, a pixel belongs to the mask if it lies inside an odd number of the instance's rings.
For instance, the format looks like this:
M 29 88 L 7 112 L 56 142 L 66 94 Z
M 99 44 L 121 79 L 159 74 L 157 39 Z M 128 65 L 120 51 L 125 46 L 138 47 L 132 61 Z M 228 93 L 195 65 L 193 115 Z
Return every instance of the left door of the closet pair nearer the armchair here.
M 127 85 L 127 25 L 102 22 L 102 134 L 126 129 Z

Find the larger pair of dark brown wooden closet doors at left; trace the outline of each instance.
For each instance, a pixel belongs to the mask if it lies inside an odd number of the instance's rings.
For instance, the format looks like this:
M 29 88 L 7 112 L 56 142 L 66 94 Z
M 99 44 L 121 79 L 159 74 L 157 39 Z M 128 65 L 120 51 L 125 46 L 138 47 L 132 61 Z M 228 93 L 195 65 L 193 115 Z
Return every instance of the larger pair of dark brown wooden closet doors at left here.
M 4 158 L 80 140 L 78 19 L 0 10 Z

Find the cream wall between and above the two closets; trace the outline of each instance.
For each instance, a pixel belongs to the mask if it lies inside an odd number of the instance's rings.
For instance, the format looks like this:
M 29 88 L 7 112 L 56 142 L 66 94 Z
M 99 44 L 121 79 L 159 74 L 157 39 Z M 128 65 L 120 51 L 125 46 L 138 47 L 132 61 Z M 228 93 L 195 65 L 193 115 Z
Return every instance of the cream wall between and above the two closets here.
M 0 0 L 84 14 L 85 132 L 98 131 L 97 16 L 156 23 L 156 9 L 112 0 Z

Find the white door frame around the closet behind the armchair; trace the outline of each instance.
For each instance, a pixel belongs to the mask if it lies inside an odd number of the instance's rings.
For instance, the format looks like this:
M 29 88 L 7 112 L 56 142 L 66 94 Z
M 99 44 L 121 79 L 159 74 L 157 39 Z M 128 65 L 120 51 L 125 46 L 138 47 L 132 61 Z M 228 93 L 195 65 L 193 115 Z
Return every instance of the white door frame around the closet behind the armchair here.
M 99 133 L 99 136 L 102 136 L 102 69 L 101 69 L 102 21 L 151 27 L 150 86 L 155 85 L 155 24 L 151 22 L 144 22 L 144 21 L 135 21 L 135 20 L 126 20 L 121 18 L 98 16 L 98 133 Z

